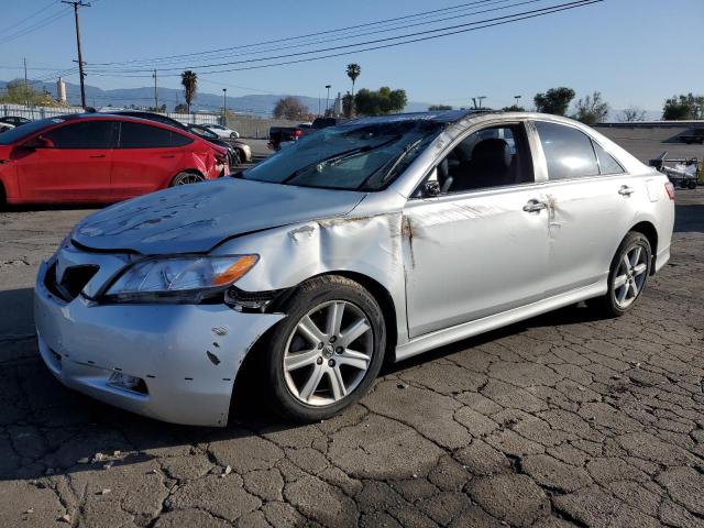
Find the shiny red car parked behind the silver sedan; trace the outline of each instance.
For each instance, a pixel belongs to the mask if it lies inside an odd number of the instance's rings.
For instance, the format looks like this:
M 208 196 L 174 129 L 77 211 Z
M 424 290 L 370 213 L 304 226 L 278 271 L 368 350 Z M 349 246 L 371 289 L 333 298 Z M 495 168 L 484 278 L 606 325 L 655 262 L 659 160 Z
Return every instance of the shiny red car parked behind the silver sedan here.
M 0 204 L 108 204 L 228 173 L 224 148 L 138 118 L 63 116 L 0 134 Z

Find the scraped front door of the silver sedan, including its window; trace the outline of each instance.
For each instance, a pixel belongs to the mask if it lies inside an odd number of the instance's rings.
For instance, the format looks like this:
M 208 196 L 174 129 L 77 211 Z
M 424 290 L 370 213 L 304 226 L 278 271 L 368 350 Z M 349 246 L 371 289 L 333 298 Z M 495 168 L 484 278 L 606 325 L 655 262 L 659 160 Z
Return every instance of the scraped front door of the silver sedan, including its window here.
M 409 337 L 541 300 L 548 219 L 524 123 L 466 135 L 429 177 L 439 196 L 404 210 Z

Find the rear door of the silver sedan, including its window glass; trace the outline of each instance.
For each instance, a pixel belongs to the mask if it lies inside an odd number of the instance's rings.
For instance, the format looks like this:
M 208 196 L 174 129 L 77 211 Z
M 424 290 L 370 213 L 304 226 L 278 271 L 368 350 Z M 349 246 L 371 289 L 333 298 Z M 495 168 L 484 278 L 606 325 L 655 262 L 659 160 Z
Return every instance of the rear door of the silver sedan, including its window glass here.
M 606 280 L 644 189 L 576 127 L 536 121 L 535 128 L 549 179 L 550 296 Z

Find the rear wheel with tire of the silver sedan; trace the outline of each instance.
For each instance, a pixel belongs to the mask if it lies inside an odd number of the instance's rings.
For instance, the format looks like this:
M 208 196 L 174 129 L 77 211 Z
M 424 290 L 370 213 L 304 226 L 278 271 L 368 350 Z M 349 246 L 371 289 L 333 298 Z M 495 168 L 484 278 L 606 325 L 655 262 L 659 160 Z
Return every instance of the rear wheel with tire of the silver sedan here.
M 638 251 L 639 250 L 639 251 Z M 626 267 L 626 260 L 631 265 Z M 606 317 L 620 317 L 630 310 L 648 282 L 652 249 L 642 233 L 630 231 L 618 246 L 608 272 L 608 292 L 587 304 Z M 624 280 L 626 280 L 622 286 Z M 635 290 L 634 290 L 635 287 Z M 635 295 L 634 295 L 635 292 Z

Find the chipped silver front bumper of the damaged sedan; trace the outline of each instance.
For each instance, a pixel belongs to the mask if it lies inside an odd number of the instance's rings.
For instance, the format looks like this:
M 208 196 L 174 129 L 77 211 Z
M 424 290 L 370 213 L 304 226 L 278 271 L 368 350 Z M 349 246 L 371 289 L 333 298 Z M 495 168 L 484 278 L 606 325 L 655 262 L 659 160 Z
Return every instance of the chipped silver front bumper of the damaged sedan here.
M 46 366 L 67 387 L 174 424 L 224 427 L 246 353 L 285 317 L 226 305 L 98 305 L 80 295 L 66 302 L 47 289 L 47 268 L 34 290 Z M 146 394 L 111 385 L 114 372 L 142 378 Z

